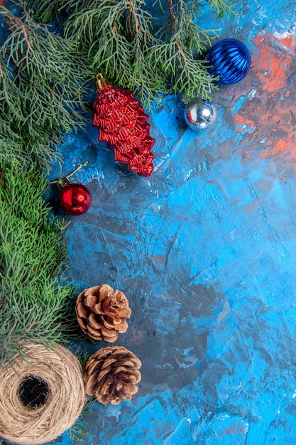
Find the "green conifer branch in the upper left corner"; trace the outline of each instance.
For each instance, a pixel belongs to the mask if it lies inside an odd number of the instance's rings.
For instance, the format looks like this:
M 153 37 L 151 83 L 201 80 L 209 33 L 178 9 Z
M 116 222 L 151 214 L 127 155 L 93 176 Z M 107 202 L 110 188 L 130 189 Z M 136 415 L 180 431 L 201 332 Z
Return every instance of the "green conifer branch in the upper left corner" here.
M 65 134 L 87 122 L 78 89 L 91 76 L 77 43 L 33 20 L 0 14 L 9 36 L 0 48 L 0 162 L 48 168 Z

